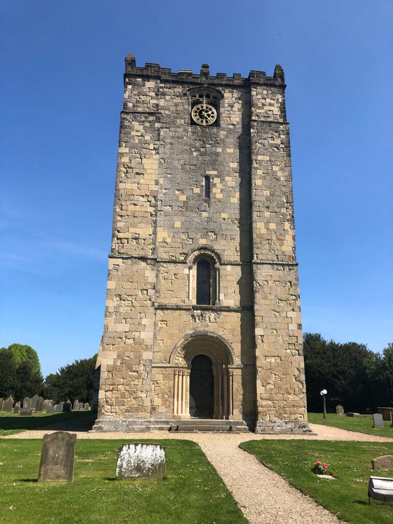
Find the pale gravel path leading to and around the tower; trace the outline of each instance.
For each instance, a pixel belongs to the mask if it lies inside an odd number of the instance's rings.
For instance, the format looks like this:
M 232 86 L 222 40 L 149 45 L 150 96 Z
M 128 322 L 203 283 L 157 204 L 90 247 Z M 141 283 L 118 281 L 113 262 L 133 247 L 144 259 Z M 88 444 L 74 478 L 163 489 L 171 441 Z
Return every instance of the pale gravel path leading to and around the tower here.
M 83 420 L 83 419 L 80 419 Z M 77 421 L 75 421 L 77 422 Z M 87 421 L 85 420 L 84 423 Z M 69 422 L 54 424 L 47 430 L 32 430 L 9 435 L 5 439 L 42 439 L 45 433 L 58 430 L 77 433 L 78 439 L 187 439 L 198 443 L 222 477 L 250 524 L 343 524 L 310 497 L 291 487 L 287 481 L 260 464 L 254 456 L 238 446 L 246 440 L 308 439 L 393 442 L 380 436 L 310 424 L 315 435 L 255 435 L 236 433 L 88 433 L 74 431 Z M 75 428 L 77 429 L 77 428 Z M 328 482 L 328 481 L 326 481 Z

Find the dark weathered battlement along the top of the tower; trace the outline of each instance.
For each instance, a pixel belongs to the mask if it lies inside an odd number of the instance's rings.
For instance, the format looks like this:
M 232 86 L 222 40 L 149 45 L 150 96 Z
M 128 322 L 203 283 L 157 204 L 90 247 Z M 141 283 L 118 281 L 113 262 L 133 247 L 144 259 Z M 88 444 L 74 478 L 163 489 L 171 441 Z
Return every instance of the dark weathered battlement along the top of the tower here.
M 240 73 L 233 73 L 232 77 L 227 77 L 226 73 L 217 73 L 216 76 L 210 75 L 208 64 L 202 64 L 200 74 L 195 74 L 190 69 L 179 69 L 178 73 L 173 73 L 171 69 L 162 68 L 157 63 L 146 62 L 145 67 L 136 67 L 135 57 L 132 53 L 128 54 L 125 59 L 126 69 L 124 81 L 127 77 L 154 77 L 170 82 L 187 82 L 195 84 L 211 85 L 243 85 L 245 83 L 258 83 L 266 85 L 277 85 L 285 88 L 284 72 L 281 65 L 277 64 L 272 77 L 267 77 L 265 71 L 249 72 L 247 78 L 242 77 Z

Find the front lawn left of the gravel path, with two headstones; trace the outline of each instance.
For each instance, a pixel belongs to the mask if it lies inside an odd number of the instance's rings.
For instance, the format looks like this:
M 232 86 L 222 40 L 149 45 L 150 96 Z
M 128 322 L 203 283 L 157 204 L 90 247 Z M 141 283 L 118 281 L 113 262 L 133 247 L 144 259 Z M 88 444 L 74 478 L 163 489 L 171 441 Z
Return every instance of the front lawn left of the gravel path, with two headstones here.
M 37 483 L 42 441 L 0 440 L 0 522 L 247 524 L 197 444 L 159 442 L 166 448 L 163 481 L 115 479 L 124 440 L 77 440 L 73 482 Z

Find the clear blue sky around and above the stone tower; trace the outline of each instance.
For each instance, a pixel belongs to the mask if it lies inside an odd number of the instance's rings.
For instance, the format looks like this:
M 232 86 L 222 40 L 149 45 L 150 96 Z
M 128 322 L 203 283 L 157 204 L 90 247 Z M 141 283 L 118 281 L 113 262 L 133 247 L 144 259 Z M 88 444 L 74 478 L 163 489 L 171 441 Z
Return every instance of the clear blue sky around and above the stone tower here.
M 287 82 L 303 330 L 393 340 L 393 3 L 2 0 L 0 346 L 97 352 L 124 57 Z

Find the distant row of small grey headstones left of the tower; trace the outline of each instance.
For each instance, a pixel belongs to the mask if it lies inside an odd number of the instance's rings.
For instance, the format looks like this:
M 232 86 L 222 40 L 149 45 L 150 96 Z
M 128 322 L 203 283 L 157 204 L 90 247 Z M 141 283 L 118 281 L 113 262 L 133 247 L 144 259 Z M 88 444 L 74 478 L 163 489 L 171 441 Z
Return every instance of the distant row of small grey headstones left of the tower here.
M 89 402 L 83 403 L 79 402 L 79 400 L 74 400 L 73 411 L 82 411 L 88 409 L 90 409 Z M 0 411 L 8 411 L 30 416 L 32 413 L 42 413 L 43 411 L 46 411 L 47 414 L 52 414 L 55 411 L 57 413 L 61 411 L 71 411 L 71 402 L 60 402 L 59 404 L 53 406 L 53 400 L 44 400 L 42 397 L 34 395 L 31 399 L 29 397 L 25 397 L 23 399 L 22 406 L 21 402 L 16 402 L 14 406 L 14 400 L 11 396 L 9 396 L 6 400 L 0 398 Z

